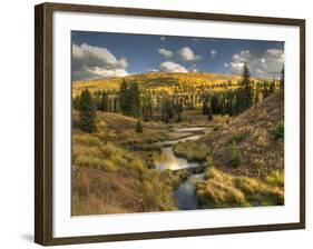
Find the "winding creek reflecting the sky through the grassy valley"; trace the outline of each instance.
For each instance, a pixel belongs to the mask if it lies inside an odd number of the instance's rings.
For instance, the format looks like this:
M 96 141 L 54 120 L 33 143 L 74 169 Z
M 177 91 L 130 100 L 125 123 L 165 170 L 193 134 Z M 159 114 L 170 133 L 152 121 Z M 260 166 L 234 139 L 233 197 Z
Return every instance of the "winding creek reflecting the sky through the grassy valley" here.
M 160 155 L 155 160 L 155 167 L 158 170 L 179 170 L 195 167 L 202 167 L 204 161 L 187 161 L 187 159 L 175 156 L 173 146 L 182 141 L 194 141 L 209 132 L 209 128 L 193 127 L 193 128 L 175 128 L 175 133 L 188 133 L 185 138 L 179 138 L 170 141 L 157 142 L 162 146 Z M 187 180 L 182 182 L 174 192 L 174 201 L 178 210 L 198 209 L 197 198 L 195 195 L 195 180 L 203 180 L 204 173 L 190 175 Z

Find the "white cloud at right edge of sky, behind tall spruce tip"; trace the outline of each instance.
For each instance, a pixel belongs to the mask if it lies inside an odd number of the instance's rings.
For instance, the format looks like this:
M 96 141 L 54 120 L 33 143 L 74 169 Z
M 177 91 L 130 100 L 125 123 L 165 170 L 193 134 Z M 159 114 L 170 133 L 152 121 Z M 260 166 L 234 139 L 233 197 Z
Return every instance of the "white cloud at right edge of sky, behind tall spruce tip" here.
M 251 74 L 254 77 L 280 77 L 284 67 L 284 51 L 281 49 L 267 49 L 261 57 L 256 57 L 248 50 L 244 50 L 235 53 L 227 64 L 232 73 L 241 74 L 244 63 L 247 63 Z

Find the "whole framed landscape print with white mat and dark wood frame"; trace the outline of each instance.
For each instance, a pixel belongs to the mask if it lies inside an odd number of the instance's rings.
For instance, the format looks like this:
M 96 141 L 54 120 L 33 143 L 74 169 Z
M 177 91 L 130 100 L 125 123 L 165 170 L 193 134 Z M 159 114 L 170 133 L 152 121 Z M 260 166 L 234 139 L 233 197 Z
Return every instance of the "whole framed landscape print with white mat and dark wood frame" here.
M 36 6 L 36 242 L 305 227 L 305 21 Z

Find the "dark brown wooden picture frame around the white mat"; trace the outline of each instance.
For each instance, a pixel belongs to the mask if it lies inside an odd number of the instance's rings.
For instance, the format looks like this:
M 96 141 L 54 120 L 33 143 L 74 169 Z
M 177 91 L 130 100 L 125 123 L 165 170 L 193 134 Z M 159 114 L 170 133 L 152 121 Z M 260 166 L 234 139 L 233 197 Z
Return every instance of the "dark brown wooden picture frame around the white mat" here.
M 52 235 L 52 14 L 55 11 L 110 13 L 194 20 L 217 20 L 300 27 L 300 222 L 123 235 L 53 238 Z M 305 228 L 305 20 L 128 9 L 99 6 L 42 3 L 35 8 L 35 241 L 43 246 L 207 236 Z

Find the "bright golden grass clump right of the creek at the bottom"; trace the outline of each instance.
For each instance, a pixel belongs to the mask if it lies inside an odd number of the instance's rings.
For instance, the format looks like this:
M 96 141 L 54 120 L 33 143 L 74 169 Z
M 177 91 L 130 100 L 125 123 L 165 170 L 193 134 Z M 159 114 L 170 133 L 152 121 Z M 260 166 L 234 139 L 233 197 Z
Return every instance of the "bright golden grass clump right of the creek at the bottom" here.
M 274 182 L 276 185 L 276 181 Z M 199 203 L 209 208 L 284 203 L 283 187 L 268 183 L 268 179 L 263 181 L 257 178 L 237 177 L 215 167 L 206 169 L 205 181 L 196 185 L 196 195 Z

